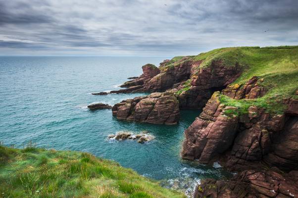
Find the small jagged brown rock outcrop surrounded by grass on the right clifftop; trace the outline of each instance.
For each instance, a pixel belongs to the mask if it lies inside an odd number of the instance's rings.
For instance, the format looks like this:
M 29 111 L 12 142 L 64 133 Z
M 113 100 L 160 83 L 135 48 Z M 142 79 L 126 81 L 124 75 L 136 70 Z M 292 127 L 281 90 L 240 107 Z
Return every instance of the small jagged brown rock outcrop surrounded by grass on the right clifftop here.
M 232 99 L 256 99 L 263 97 L 267 90 L 260 86 L 259 83 L 263 82 L 264 79 L 259 79 L 257 76 L 253 76 L 244 85 L 233 84 L 229 85 L 222 91 L 222 94 Z M 258 83 L 259 82 L 259 83 Z

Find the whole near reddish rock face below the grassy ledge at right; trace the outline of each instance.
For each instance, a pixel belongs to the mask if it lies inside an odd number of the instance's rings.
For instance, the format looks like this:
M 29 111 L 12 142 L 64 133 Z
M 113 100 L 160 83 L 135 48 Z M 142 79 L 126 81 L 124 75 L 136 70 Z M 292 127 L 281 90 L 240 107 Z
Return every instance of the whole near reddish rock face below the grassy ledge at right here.
M 247 114 L 238 115 L 236 108 L 220 103 L 218 94 L 185 131 L 183 158 L 209 163 L 224 154 L 224 164 L 232 171 L 260 166 L 261 161 L 284 171 L 298 169 L 295 113 L 270 115 L 266 109 L 250 106 Z

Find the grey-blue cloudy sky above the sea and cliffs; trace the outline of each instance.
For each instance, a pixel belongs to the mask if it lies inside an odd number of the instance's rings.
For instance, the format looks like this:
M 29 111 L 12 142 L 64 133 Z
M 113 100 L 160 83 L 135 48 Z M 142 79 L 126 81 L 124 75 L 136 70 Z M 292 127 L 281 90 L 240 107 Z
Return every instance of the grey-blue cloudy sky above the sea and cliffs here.
M 298 0 L 0 0 L 0 55 L 176 56 L 298 45 Z

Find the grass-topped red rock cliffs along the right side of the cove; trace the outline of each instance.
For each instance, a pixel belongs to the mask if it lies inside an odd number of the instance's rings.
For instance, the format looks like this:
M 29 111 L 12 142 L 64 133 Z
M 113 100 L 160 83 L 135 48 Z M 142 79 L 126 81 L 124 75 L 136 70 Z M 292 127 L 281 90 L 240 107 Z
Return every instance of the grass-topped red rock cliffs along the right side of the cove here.
M 290 194 L 281 187 L 298 188 L 297 46 L 214 49 L 165 60 L 158 69 L 121 92 L 166 91 L 180 109 L 203 108 L 185 131 L 182 158 L 219 160 L 239 172 L 230 181 L 207 180 L 197 197 L 229 197 L 222 193 L 226 190 L 230 197 L 298 197 L 297 191 Z M 275 176 L 276 181 L 268 180 Z M 285 184 L 285 179 L 291 182 Z M 237 183 L 250 194 L 235 194 L 237 188 L 229 185 Z

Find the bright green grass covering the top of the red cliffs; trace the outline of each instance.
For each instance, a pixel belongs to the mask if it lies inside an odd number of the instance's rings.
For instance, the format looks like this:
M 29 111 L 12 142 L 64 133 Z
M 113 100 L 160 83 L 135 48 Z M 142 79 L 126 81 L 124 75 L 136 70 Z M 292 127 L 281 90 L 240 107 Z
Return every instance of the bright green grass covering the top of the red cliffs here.
M 171 65 L 179 63 L 182 58 L 174 57 L 170 61 Z M 197 68 L 193 68 L 194 77 L 197 75 L 196 70 L 220 61 L 225 67 L 239 67 L 242 70 L 241 76 L 232 84 L 244 85 L 253 76 L 263 79 L 258 84 L 268 92 L 262 98 L 237 100 L 220 96 L 221 103 L 237 107 L 240 114 L 247 113 L 248 107 L 252 105 L 266 108 L 269 113 L 282 114 L 286 108 L 282 104 L 283 99 L 298 99 L 298 46 L 221 48 L 188 56 L 187 60 L 201 61 Z M 190 86 L 186 86 L 176 93 L 181 94 L 189 89 Z

